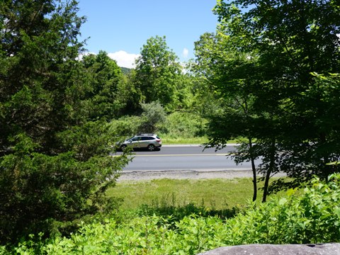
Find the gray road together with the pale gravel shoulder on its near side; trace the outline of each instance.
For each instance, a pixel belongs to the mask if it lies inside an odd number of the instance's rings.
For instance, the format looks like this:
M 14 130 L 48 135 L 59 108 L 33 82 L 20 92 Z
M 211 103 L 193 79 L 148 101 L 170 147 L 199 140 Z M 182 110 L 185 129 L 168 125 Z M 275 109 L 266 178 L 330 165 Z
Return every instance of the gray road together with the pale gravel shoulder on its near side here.
M 123 169 L 121 180 L 207 179 L 251 177 L 251 164 L 235 164 L 227 157 L 234 146 L 215 152 L 198 145 L 164 146 L 157 152 L 134 152 L 132 162 Z M 259 162 L 256 162 L 259 164 Z

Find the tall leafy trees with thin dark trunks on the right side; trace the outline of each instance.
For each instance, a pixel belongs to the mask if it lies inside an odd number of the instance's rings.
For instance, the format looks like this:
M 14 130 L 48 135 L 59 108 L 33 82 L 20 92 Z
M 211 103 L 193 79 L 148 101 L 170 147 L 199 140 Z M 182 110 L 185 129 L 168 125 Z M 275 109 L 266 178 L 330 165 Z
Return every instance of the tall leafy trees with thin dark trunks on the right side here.
M 266 181 L 263 201 L 278 171 L 295 177 L 285 186 L 327 179 L 340 155 L 339 4 L 217 1 L 214 11 L 216 33 L 196 42 L 196 71 L 222 106 L 209 116 L 210 145 L 246 138 L 235 159 L 261 157 L 253 171 L 254 183 L 256 172 Z

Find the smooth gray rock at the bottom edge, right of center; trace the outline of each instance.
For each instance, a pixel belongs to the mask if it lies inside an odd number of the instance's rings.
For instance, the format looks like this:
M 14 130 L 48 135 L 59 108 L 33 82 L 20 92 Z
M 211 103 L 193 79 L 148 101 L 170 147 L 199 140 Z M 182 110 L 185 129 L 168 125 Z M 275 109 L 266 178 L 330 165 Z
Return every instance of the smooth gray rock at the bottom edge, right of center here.
M 340 255 L 340 244 L 248 244 L 226 246 L 200 255 Z M 199 255 L 199 254 L 198 254 Z

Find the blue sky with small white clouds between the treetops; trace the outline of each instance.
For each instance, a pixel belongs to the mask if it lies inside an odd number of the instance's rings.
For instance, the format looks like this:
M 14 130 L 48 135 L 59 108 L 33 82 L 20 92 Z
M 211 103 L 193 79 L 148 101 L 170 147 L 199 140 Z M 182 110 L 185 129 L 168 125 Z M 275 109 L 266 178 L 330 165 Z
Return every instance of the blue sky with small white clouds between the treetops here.
M 194 42 L 205 32 L 215 32 L 216 0 L 78 0 L 79 15 L 87 21 L 81 38 L 86 49 L 99 50 L 132 67 L 147 39 L 166 36 L 166 44 L 181 62 L 193 58 Z

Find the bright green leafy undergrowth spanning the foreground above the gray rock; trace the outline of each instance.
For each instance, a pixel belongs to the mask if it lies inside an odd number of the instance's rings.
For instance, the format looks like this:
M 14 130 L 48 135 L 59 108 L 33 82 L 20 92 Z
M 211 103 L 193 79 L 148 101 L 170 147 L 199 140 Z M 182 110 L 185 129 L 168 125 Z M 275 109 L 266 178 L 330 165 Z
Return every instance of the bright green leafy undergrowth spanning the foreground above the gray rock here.
M 272 198 L 257 207 L 249 205 L 233 218 L 185 216 L 127 217 L 119 221 L 82 225 L 69 238 L 21 242 L 11 247 L 18 254 L 198 254 L 219 246 L 237 244 L 310 244 L 340 242 L 340 176 L 297 196 Z M 2 250 L 1 250 L 2 249 Z M 3 253 L 5 247 L 1 247 Z

